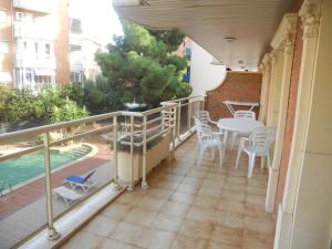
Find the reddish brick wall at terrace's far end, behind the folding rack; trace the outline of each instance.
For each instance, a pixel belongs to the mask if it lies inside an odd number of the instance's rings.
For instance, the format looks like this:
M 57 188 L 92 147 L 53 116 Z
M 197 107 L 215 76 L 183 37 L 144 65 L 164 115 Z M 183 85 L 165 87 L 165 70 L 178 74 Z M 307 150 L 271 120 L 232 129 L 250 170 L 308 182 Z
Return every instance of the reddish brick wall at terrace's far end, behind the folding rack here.
M 232 116 L 222 104 L 224 101 L 260 102 L 261 73 L 253 72 L 228 72 L 222 84 L 207 92 L 206 110 L 214 120 Z M 242 108 L 237 106 L 237 110 Z M 259 107 L 255 108 L 256 114 Z

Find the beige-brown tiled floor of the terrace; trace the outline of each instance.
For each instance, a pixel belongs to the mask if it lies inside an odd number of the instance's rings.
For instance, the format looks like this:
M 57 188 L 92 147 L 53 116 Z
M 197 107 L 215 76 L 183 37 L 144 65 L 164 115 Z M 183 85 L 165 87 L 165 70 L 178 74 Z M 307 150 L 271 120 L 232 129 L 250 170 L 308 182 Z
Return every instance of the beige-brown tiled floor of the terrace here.
M 151 188 L 123 194 L 62 248 L 270 249 L 274 222 L 264 212 L 267 169 L 259 162 L 251 179 L 247 159 L 195 165 L 196 137 L 176 151 L 176 162 L 159 165 Z M 209 158 L 209 155 L 206 155 Z

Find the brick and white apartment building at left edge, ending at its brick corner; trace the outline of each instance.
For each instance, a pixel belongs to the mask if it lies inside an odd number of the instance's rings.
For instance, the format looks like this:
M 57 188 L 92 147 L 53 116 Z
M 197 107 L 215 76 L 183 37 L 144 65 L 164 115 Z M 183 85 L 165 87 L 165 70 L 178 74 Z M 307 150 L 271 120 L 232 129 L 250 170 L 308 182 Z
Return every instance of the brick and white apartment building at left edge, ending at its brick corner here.
M 0 1 L 0 82 L 17 89 L 69 83 L 65 0 Z

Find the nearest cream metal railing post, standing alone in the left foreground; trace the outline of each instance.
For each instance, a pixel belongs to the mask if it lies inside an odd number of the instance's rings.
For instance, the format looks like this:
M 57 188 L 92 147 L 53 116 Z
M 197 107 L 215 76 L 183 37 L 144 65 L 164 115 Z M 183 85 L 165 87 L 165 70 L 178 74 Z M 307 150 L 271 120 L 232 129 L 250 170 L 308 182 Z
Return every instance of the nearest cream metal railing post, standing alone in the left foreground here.
M 44 134 L 44 168 L 45 168 L 45 184 L 46 184 L 46 209 L 48 209 L 48 238 L 49 240 L 56 240 L 60 238 L 60 232 L 53 226 L 53 196 L 52 196 L 52 169 L 50 158 L 50 135 Z

